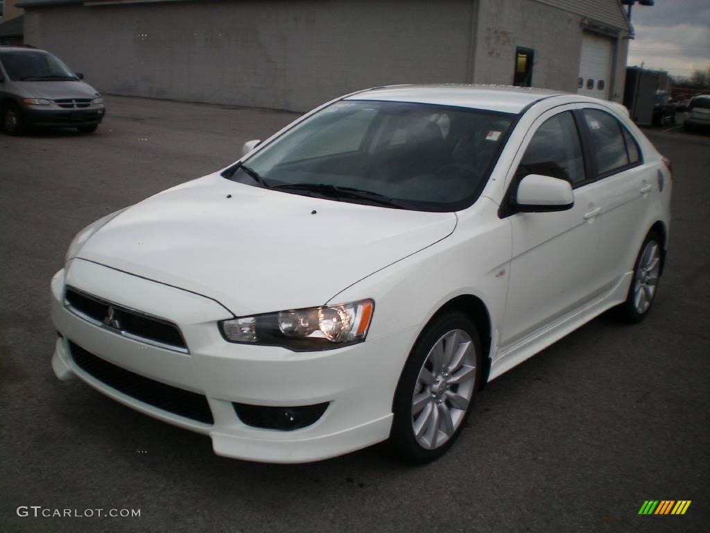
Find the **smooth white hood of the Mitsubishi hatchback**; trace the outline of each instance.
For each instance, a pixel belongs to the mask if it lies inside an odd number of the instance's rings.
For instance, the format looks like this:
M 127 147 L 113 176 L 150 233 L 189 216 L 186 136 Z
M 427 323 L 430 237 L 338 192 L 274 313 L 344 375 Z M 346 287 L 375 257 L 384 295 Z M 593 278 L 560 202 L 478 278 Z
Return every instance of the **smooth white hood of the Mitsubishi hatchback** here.
M 244 316 L 322 305 L 447 237 L 456 223 L 454 213 L 310 198 L 216 174 L 124 210 L 77 257 L 209 296 Z

